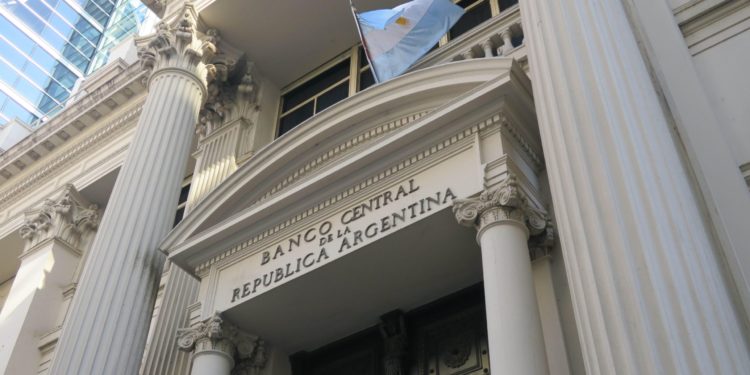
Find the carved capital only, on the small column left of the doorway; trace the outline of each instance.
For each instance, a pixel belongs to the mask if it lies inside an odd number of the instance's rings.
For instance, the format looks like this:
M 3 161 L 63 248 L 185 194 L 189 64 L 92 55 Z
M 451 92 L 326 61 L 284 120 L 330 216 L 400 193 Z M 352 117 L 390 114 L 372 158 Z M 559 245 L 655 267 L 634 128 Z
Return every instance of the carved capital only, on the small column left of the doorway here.
M 180 350 L 195 354 L 204 351 L 222 352 L 238 363 L 236 367 L 242 371 L 247 370 L 239 374 L 257 374 L 267 360 L 265 342 L 261 338 L 242 332 L 235 325 L 224 321 L 218 312 L 193 327 L 178 330 L 177 346 Z

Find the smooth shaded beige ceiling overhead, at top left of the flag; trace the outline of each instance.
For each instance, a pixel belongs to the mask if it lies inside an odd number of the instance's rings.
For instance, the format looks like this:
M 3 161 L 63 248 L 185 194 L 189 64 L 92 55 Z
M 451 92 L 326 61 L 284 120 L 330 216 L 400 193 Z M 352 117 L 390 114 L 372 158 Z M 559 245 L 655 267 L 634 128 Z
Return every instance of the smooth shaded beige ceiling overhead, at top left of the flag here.
M 356 0 L 360 11 L 401 0 Z M 218 0 L 201 19 L 245 51 L 279 87 L 359 42 L 346 0 Z

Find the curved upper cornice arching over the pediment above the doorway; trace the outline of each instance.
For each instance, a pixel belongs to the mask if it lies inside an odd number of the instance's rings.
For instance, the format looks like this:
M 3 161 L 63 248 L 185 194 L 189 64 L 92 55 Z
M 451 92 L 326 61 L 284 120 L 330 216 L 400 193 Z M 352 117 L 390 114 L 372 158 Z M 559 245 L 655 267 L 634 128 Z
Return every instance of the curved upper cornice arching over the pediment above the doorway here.
M 280 182 L 286 185 L 282 191 L 297 186 L 298 184 L 292 184 L 293 181 L 283 182 L 275 177 L 278 171 L 287 168 L 297 170 L 303 167 L 304 170 L 317 167 L 319 162 L 309 159 L 311 151 L 314 152 L 321 147 L 331 150 L 335 148 L 335 143 L 345 143 L 347 138 L 351 138 L 350 134 L 354 129 L 366 129 L 366 124 L 382 117 L 383 113 L 401 113 L 405 110 L 403 103 L 406 100 L 414 101 L 410 104 L 411 108 L 423 110 L 445 105 L 446 102 L 455 103 L 448 108 L 461 107 L 466 100 L 475 100 L 475 96 L 502 95 L 501 92 L 491 91 L 494 90 L 491 88 L 494 87 L 494 83 L 490 86 L 486 84 L 495 81 L 500 84 L 499 82 L 505 82 L 507 79 L 513 84 L 501 91 L 514 87 L 520 89 L 524 95 L 530 94 L 528 79 L 521 69 L 514 67 L 512 60 L 476 59 L 412 72 L 345 99 L 313 117 L 304 126 L 295 128 L 258 151 L 194 207 L 191 215 L 188 215 L 165 239 L 162 249 L 171 251 L 178 244 L 181 244 L 180 248 L 183 247 L 189 236 L 195 237 L 199 231 L 210 231 L 213 224 L 209 225 L 207 222 L 213 223 L 219 215 L 225 215 L 226 210 L 236 211 L 238 205 L 262 199 Z M 471 99 L 465 95 L 469 95 Z M 466 108 L 461 109 L 465 110 Z M 435 116 L 440 116 L 437 112 L 441 110 L 434 112 Z M 419 122 L 423 122 L 424 117 L 434 116 L 431 112 L 420 118 Z M 442 120 L 438 122 L 442 123 Z M 304 167 L 305 163 L 310 163 L 310 166 Z M 292 177 L 292 180 L 294 178 Z M 249 186 L 253 187 L 252 190 L 248 190 Z

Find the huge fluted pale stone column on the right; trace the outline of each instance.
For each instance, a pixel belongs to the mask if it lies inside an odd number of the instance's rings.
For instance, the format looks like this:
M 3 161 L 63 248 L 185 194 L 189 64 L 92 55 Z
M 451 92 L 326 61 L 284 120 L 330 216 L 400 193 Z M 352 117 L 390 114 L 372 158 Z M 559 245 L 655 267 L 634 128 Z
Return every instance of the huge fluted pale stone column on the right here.
M 623 4 L 520 6 L 587 372 L 747 372 L 733 286 Z

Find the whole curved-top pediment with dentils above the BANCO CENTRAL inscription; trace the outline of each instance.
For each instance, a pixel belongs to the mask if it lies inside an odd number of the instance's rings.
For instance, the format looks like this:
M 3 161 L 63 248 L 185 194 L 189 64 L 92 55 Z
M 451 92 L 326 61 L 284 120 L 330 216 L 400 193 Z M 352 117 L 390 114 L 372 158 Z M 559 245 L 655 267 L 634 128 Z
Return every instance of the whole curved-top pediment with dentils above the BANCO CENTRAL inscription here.
M 210 253 L 311 209 L 363 171 L 449 136 L 451 124 L 481 121 L 509 97 L 533 106 L 525 73 L 503 58 L 431 67 L 369 88 L 260 150 L 196 205 L 162 249 L 192 270 Z

